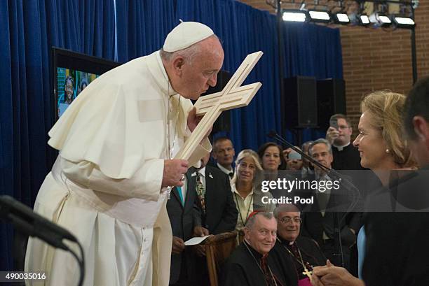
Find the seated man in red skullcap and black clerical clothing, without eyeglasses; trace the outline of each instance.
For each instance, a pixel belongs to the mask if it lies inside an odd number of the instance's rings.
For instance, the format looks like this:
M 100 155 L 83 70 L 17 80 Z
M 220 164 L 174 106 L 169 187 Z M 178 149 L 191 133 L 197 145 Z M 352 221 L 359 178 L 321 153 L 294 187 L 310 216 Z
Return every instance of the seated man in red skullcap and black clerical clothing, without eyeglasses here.
M 277 222 L 272 213 L 254 212 L 244 228 L 245 238 L 226 261 L 220 285 L 295 286 L 290 257 L 268 254 L 275 244 Z

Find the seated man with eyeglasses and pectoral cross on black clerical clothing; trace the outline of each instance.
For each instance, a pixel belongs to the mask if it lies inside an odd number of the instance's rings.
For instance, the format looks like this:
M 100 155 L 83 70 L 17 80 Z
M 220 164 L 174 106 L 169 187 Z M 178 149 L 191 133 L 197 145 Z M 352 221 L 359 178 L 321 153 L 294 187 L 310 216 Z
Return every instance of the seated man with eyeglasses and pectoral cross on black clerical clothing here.
M 297 274 L 298 280 L 304 280 L 307 285 L 310 285 L 313 267 L 325 265 L 326 258 L 313 239 L 299 236 L 301 229 L 300 215 L 299 209 L 292 204 L 285 204 L 275 208 L 277 241 L 270 255 L 277 254 L 280 257 L 290 257 L 294 265 L 292 273 Z M 304 281 L 301 282 L 303 285 L 305 285 Z

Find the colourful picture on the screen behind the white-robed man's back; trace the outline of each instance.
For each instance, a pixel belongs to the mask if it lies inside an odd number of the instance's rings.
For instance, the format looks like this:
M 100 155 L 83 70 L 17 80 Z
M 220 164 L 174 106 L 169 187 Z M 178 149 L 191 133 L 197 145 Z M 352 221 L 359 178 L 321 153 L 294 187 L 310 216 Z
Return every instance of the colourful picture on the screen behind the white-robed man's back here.
M 85 88 L 98 78 L 93 73 L 74 69 L 57 68 L 57 111 L 58 118 Z

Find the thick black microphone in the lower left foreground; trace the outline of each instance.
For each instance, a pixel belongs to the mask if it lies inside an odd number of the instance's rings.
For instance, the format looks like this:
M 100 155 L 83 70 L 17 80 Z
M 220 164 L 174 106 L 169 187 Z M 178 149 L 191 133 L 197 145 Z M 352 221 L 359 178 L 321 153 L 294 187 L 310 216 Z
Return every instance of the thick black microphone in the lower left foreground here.
M 0 196 L 0 218 L 11 221 L 24 234 L 40 238 L 55 248 L 69 250 L 69 247 L 62 242 L 64 238 L 78 242 L 76 237 L 70 234 L 67 229 L 34 213 L 31 208 L 11 196 Z

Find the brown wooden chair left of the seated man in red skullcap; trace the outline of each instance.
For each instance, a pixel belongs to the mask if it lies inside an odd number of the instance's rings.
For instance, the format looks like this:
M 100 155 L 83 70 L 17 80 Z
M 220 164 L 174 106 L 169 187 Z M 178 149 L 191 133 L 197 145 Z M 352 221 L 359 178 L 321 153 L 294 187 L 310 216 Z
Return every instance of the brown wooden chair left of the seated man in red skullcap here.
M 237 247 L 236 231 L 209 236 L 205 239 L 205 257 L 209 273 L 210 286 L 218 286 L 218 278 L 222 264 Z

